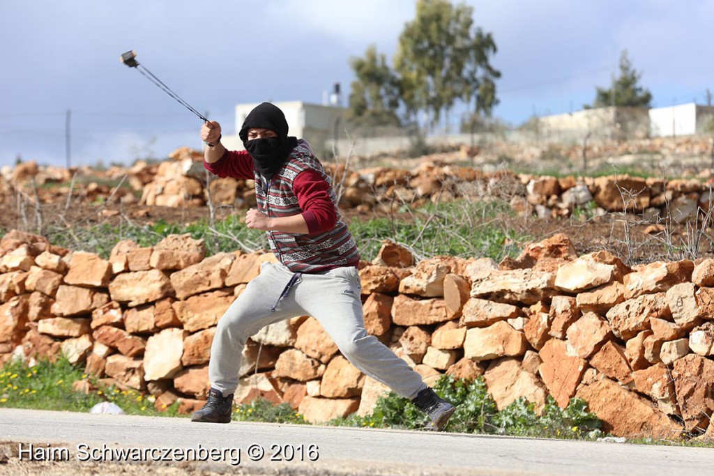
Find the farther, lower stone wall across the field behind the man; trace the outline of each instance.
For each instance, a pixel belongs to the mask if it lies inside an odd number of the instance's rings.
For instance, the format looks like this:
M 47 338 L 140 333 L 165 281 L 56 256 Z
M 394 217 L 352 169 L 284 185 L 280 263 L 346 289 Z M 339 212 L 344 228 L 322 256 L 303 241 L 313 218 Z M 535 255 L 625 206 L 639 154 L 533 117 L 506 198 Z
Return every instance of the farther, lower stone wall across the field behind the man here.
M 477 153 L 464 151 L 465 154 Z M 210 196 L 215 204 L 255 206 L 252 180 L 214 178 L 205 191 L 201 164 L 184 159 L 162 163 L 153 180 L 144 186 L 141 203 L 149 206 L 203 206 Z M 483 173 L 476 168 L 439 161 L 421 163 L 410 170 L 375 167 L 359 171 L 327 166 L 340 193 L 341 208 L 361 211 L 396 211 L 404 205 L 458 199 L 508 201 L 518 213 L 541 218 L 569 217 L 580 207 L 594 203 L 598 213 L 623 210 L 640 213 L 652 223 L 692 221 L 706 213 L 713 201 L 712 181 L 697 178 L 665 180 L 628 175 L 604 177 L 531 176 L 508 171 Z

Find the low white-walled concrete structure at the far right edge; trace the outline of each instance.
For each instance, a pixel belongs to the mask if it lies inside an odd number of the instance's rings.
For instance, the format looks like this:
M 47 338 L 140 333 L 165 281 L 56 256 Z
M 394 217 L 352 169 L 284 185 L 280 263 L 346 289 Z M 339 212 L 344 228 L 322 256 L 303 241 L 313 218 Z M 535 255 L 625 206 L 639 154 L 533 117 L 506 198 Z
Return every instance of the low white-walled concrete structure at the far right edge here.
M 714 106 L 696 103 L 650 109 L 650 136 L 693 136 L 706 131 L 714 119 Z

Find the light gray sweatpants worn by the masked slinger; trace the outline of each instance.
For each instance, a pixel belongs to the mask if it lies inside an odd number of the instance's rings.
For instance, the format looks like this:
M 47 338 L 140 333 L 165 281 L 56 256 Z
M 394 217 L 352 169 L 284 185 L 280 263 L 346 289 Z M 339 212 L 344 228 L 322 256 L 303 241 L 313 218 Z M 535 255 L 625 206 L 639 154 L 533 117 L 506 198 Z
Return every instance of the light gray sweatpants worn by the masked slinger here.
M 263 264 L 261 274 L 218 320 L 211 345 L 211 387 L 230 395 L 238 388 L 238 369 L 246 340 L 264 326 L 298 315 L 318 320 L 352 365 L 409 399 L 426 388 L 421 376 L 364 328 L 360 279 L 356 268 L 303 274 L 271 312 L 293 276 L 286 266 Z

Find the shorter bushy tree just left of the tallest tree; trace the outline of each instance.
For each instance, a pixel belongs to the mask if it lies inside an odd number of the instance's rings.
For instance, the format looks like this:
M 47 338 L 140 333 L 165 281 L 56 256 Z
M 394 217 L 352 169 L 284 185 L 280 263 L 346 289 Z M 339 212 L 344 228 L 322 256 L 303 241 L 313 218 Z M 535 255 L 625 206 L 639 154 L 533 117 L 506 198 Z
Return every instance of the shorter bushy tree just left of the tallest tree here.
M 362 126 L 398 126 L 399 81 L 383 54 L 369 46 L 363 58 L 353 58 L 355 73 L 349 97 L 350 121 Z

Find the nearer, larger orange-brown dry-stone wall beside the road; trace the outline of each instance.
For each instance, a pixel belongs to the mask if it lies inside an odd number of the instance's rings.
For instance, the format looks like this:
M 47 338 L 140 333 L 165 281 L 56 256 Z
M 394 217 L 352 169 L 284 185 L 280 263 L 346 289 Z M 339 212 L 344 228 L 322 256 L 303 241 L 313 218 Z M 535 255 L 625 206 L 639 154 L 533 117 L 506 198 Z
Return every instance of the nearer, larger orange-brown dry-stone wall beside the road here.
M 109 260 L 11 231 L 0 240 L 0 361 L 66 355 L 159 410 L 202 405 L 216 323 L 271 254 L 205 257 L 199 240 L 117 243 Z M 714 260 L 628 268 L 566 236 L 516 259 L 431 258 L 384 243 L 361 263 L 368 333 L 427 383 L 483 375 L 499 408 L 583 397 L 618 436 L 714 434 Z M 288 402 L 312 422 L 370 412 L 387 389 L 301 316 L 248 341 L 238 403 Z

